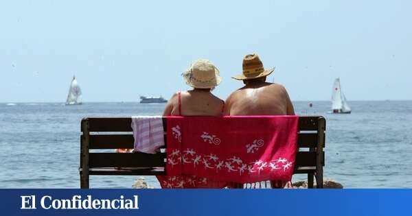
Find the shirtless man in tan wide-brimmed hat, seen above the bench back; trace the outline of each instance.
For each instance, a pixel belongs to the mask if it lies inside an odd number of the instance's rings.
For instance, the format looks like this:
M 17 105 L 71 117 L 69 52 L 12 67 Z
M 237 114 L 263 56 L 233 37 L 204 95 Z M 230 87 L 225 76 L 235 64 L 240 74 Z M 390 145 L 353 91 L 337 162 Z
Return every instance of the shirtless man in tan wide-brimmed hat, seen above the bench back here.
M 295 115 L 288 92 L 280 84 L 266 82 L 275 68 L 265 70 L 257 54 L 243 59 L 243 73 L 232 77 L 244 87 L 229 95 L 225 115 Z

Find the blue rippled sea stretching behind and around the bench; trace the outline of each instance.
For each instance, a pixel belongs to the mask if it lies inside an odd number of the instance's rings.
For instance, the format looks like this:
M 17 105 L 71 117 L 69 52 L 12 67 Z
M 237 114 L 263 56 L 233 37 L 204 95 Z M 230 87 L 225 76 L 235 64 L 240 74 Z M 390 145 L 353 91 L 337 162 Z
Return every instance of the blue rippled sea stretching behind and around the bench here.
M 312 107 L 309 104 L 312 104 Z M 412 101 L 349 101 L 352 114 L 330 114 L 330 101 L 295 101 L 297 115 L 326 118 L 324 176 L 345 188 L 412 187 Z M 0 104 L 0 188 L 79 188 L 84 117 L 161 115 L 165 104 Z M 92 188 L 131 188 L 137 176 L 91 176 Z M 159 187 L 151 176 L 150 187 Z M 306 175 L 295 175 L 293 181 Z

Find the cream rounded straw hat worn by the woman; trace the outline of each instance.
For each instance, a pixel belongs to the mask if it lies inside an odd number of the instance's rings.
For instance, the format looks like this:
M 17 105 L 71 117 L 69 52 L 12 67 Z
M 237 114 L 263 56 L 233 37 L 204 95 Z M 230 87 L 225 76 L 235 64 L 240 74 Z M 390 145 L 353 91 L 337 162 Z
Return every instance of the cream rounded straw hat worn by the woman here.
M 194 88 L 214 88 L 222 81 L 219 70 L 206 59 L 192 62 L 190 68 L 183 72 L 182 76 L 186 84 Z

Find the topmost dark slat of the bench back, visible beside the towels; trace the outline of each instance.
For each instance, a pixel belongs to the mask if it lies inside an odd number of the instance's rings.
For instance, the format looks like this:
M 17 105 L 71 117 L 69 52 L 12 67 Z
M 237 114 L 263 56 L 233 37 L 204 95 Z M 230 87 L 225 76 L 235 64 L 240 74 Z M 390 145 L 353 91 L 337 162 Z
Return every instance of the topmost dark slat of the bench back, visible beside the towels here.
M 131 132 L 132 118 L 130 117 L 96 117 L 89 120 L 89 132 Z M 299 117 L 299 130 L 317 130 L 319 117 Z

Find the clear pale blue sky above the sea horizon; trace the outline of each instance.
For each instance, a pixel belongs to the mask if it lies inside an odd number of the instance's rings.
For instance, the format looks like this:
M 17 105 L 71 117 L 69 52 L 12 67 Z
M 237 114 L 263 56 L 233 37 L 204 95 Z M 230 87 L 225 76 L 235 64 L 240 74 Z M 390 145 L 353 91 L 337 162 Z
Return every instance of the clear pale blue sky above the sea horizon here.
M 412 99 L 412 1 L 0 1 L 0 102 L 139 101 L 214 62 L 225 99 L 258 53 L 293 101 Z

